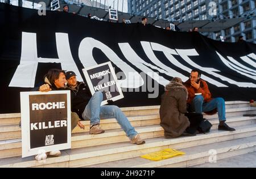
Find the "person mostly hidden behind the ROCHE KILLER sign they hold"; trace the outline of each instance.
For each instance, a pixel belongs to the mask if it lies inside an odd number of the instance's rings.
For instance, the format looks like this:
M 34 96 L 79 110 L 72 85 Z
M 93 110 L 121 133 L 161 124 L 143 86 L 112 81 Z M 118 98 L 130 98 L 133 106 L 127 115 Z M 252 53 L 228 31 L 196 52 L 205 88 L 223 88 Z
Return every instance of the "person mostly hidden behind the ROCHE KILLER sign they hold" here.
M 40 87 L 34 88 L 34 91 L 48 92 L 56 90 L 65 90 L 65 71 L 59 69 L 50 69 L 44 76 L 44 84 Z M 75 112 L 71 112 L 71 131 L 79 125 L 81 129 L 84 129 L 84 125 L 79 121 L 79 116 Z M 51 151 L 46 153 L 47 156 L 60 156 L 59 150 Z M 35 156 L 36 160 L 40 160 L 40 156 Z

